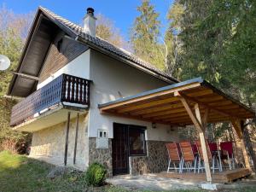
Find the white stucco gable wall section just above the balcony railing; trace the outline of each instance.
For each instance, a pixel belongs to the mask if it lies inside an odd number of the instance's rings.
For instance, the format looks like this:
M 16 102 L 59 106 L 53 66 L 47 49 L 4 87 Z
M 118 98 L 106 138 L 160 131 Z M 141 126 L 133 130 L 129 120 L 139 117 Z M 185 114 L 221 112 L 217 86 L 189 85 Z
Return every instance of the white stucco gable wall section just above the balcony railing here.
M 77 76 L 79 78 L 89 79 L 90 75 L 90 49 L 86 50 L 83 54 L 79 55 L 73 61 L 67 63 L 57 72 L 53 73 L 51 77 L 45 79 L 42 83 L 38 84 L 38 89 L 48 84 L 53 79 L 59 77 L 62 73 Z

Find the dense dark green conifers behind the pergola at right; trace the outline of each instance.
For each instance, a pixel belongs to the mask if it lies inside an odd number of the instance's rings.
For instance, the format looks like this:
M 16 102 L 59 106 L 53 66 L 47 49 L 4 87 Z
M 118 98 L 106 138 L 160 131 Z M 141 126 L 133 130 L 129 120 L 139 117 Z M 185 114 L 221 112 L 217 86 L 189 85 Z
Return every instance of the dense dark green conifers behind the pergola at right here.
M 252 108 L 256 102 L 255 1 L 181 0 L 179 3 L 185 8 L 179 34 L 183 49 L 182 79 L 201 76 Z M 255 132 L 253 121 L 247 125 Z M 223 133 L 224 126 L 229 127 L 222 124 L 217 131 Z M 247 129 L 244 133 L 248 135 Z

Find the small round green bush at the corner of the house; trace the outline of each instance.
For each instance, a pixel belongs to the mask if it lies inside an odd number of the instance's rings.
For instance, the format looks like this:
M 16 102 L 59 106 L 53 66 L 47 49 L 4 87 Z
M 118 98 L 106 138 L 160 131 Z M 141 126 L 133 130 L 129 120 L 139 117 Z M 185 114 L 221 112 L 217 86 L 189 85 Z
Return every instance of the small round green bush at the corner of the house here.
M 85 182 L 89 186 L 102 186 L 106 180 L 107 170 L 100 163 L 92 163 L 85 172 Z

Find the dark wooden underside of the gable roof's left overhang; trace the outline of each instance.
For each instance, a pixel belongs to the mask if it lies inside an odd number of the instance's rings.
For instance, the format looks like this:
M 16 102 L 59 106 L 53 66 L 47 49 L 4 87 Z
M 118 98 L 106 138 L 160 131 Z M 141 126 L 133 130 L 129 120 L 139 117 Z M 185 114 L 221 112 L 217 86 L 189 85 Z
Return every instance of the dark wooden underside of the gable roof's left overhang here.
M 26 43 L 20 55 L 20 61 L 16 69 L 17 73 L 38 77 L 48 53 L 52 38 L 57 27 L 47 18 L 41 9 L 32 22 L 32 27 L 26 38 Z M 37 80 L 14 74 L 9 84 L 8 96 L 29 96 L 36 90 Z

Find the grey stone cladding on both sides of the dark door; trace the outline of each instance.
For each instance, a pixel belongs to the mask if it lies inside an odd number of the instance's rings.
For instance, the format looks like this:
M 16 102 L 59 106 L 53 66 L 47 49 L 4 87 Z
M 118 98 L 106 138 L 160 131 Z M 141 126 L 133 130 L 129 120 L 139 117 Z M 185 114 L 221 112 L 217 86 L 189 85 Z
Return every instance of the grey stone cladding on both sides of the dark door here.
M 147 141 L 147 156 L 129 157 L 130 173 L 142 175 L 166 171 L 168 166 L 168 154 L 166 142 Z M 99 162 L 108 170 L 108 177 L 113 176 L 112 166 L 112 139 L 108 140 L 108 148 L 96 148 L 96 138 L 89 138 L 89 164 Z

